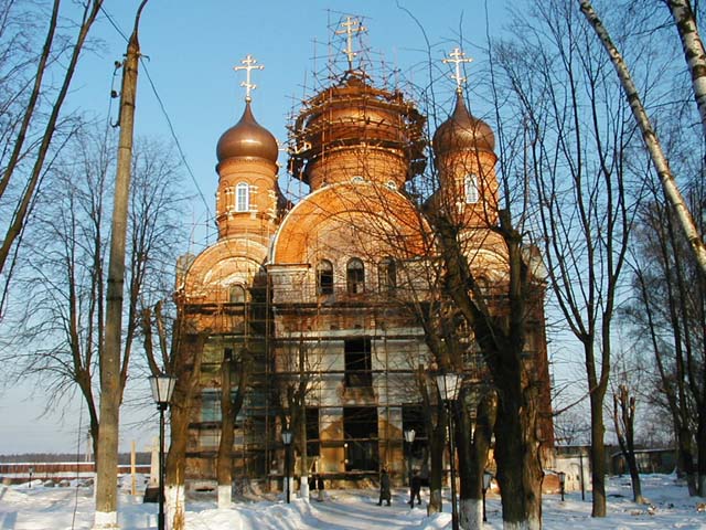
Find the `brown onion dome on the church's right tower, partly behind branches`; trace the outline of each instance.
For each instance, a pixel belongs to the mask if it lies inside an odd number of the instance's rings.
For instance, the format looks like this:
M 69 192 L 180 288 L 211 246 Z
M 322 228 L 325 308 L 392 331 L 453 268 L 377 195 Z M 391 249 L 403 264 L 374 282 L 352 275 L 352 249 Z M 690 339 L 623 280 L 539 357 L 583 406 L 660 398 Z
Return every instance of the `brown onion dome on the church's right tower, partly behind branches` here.
M 457 93 L 453 114 L 435 132 L 432 146 L 437 157 L 454 150 L 493 152 L 495 136 L 485 121 L 471 116 L 462 95 Z

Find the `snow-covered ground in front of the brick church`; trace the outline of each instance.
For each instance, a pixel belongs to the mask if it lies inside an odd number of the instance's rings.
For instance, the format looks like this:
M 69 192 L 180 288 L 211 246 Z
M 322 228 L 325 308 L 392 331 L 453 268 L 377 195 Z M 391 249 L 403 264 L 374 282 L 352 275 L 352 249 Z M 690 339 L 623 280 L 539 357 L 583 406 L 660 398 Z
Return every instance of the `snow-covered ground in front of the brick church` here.
M 590 517 L 590 495 L 581 501 L 580 492 L 571 492 L 561 502 L 558 496 L 544 497 L 544 529 L 565 530 L 627 530 L 627 529 L 706 529 L 706 512 L 697 510 L 704 501 L 689 498 L 686 487 L 671 475 L 644 475 L 643 492 L 649 505 L 631 501 L 627 477 L 609 479 L 608 517 Z M 89 529 L 93 522 L 92 488 L 44 487 L 35 480 L 28 484 L 0 486 L 0 528 L 7 530 Z M 424 499 L 422 491 L 422 499 Z M 325 501 L 304 502 L 282 498 L 274 500 L 242 500 L 231 509 L 216 509 L 215 499 L 193 500 L 188 506 L 186 526 L 191 530 L 422 530 L 450 529 L 451 515 L 427 517 L 425 505 L 409 509 L 406 492 L 395 491 L 391 507 L 377 506 L 375 490 L 330 490 Z M 446 502 L 445 508 L 450 509 Z M 119 521 L 124 530 L 157 528 L 154 504 L 142 504 L 141 496 L 121 494 Z M 502 529 L 500 499 L 488 499 L 485 528 Z

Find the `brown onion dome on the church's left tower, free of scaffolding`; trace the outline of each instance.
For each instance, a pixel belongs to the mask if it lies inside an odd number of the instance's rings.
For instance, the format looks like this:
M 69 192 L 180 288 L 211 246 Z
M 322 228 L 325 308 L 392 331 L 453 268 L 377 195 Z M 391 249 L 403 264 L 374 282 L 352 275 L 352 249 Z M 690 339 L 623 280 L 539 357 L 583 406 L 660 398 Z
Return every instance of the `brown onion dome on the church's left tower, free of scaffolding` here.
M 278 155 L 277 140 L 255 120 L 250 102 L 245 103 L 243 117 L 221 136 L 216 146 L 218 163 L 236 157 L 257 157 L 276 163 Z

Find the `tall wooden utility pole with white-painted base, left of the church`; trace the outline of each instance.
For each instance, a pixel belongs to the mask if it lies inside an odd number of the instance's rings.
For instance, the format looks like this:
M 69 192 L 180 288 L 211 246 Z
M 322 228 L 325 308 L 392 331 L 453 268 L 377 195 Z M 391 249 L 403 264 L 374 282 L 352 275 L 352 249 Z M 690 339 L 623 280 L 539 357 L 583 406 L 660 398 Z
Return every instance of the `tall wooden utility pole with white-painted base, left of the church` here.
M 132 130 L 137 71 L 140 57 L 138 24 L 148 0 L 142 0 L 135 17 L 135 28 L 128 41 L 122 63 L 120 92 L 120 137 L 115 182 L 113 224 L 110 232 L 110 262 L 106 298 L 105 341 L 100 352 L 100 420 L 98 454 L 96 455 L 96 512 L 94 529 L 115 529 L 118 526 L 118 428 L 122 384 L 120 382 L 122 331 L 122 290 L 125 283 L 125 242 L 132 163 Z

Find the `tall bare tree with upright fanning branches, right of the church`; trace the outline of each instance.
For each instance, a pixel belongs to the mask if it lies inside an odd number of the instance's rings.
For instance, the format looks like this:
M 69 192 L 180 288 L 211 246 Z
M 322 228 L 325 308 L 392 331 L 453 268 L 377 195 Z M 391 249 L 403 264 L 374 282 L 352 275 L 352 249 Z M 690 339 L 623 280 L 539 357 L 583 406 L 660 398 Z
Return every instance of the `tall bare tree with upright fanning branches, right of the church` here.
M 603 399 L 630 227 L 645 171 L 634 126 L 574 4 L 543 2 L 502 62 L 523 105 L 549 282 L 584 349 L 593 517 L 606 515 Z M 546 35 L 536 38 L 537 34 Z M 637 191 L 633 191 L 637 190 Z

